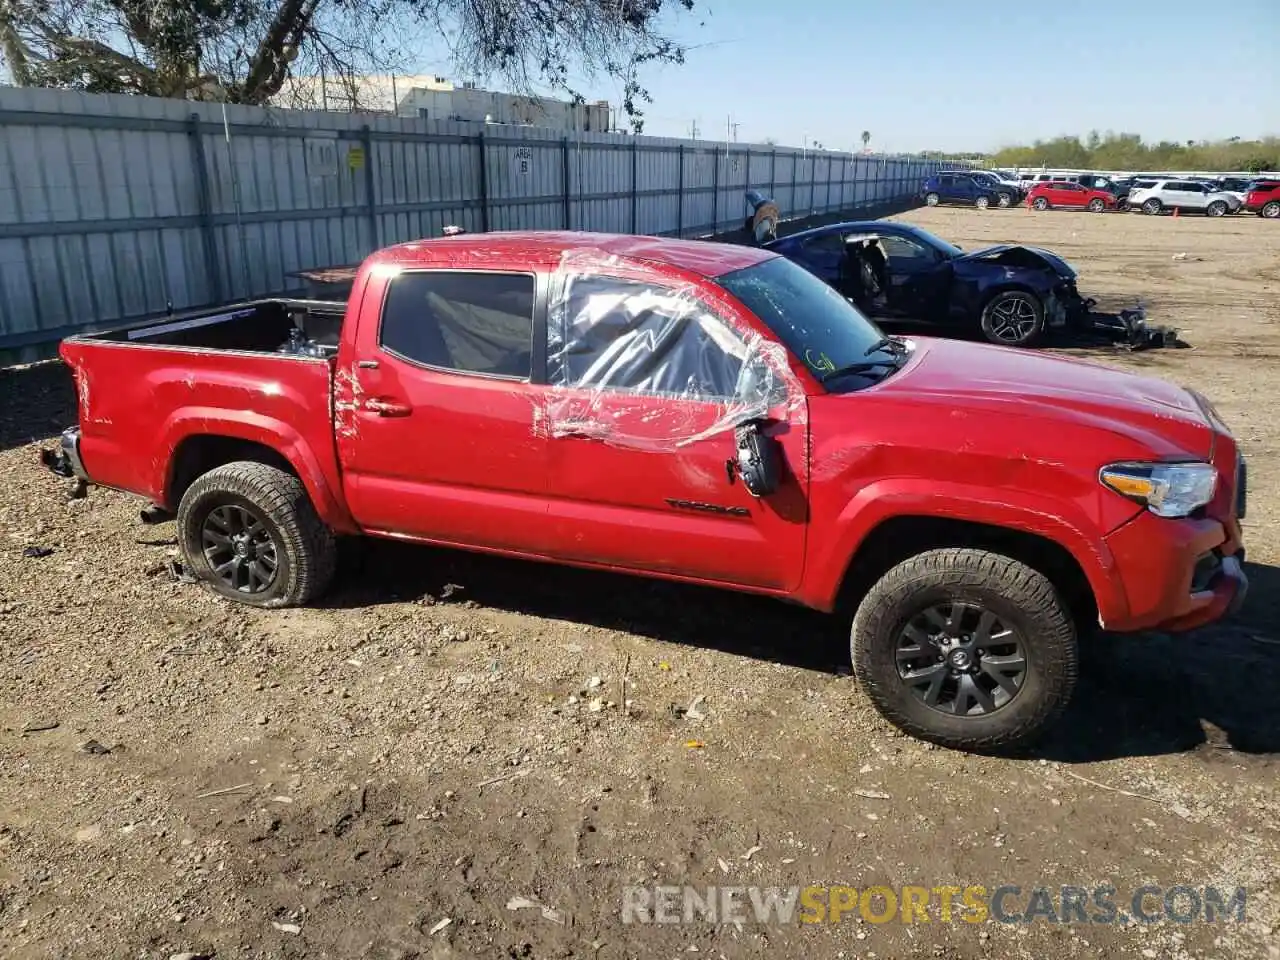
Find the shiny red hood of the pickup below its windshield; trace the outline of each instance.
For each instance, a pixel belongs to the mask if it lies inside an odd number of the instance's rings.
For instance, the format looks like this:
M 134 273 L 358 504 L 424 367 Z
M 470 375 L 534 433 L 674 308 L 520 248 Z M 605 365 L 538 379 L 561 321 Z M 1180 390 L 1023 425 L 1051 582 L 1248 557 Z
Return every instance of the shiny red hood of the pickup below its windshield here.
M 1176 384 L 1016 347 L 911 339 L 915 356 L 874 390 L 951 410 L 1092 426 L 1156 457 L 1212 454 L 1212 426 L 1196 397 Z

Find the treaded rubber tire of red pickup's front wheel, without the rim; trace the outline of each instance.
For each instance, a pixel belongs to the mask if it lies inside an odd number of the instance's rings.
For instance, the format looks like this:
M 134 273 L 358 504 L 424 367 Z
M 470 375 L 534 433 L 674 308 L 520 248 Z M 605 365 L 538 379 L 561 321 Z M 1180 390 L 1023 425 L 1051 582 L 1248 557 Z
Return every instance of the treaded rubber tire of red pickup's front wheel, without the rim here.
M 982 604 L 1018 631 L 1027 675 L 1009 703 L 956 717 L 916 698 L 899 678 L 899 636 L 920 609 L 948 600 Z M 937 549 L 890 570 L 863 598 L 850 634 L 854 675 L 881 714 L 911 736 L 956 750 L 1015 751 L 1062 712 L 1079 675 L 1075 623 L 1053 585 L 998 553 Z

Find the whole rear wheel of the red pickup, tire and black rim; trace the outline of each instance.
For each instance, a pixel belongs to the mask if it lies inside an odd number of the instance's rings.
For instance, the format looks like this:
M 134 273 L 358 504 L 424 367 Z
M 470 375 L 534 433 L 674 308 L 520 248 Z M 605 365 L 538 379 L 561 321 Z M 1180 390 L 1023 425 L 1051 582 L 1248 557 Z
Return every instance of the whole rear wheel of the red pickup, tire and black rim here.
M 337 544 L 302 481 L 241 461 L 198 477 L 178 504 L 178 545 L 191 572 L 252 607 L 294 607 L 333 579 Z

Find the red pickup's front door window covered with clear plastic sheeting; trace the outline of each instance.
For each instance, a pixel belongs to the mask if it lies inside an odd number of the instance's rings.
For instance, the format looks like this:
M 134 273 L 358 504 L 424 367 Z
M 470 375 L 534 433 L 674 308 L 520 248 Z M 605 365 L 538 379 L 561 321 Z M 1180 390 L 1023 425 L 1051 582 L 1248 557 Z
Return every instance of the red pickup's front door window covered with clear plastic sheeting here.
M 686 292 L 602 275 L 564 283 L 548 317 L 554 385 L 723 402 L 767 379 L 746 340 Z

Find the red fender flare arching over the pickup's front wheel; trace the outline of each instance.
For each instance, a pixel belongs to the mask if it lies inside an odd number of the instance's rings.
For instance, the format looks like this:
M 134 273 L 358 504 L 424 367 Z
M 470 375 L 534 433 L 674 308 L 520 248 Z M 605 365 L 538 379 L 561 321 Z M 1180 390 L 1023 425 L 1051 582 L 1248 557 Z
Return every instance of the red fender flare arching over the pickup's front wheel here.
M 922 517 L 1004 527 L 1041 536 L 1062 547 L 1079 564 L 1103 622 L 1128 616 L 1116 561 L 1105 536 L 1074 504 L 1014 490 L 938 483 L 915 477 L 882 480 L 860 489 L 840 512 L 832 535 L 806 563 L 810 575 L 800 593 L 819 609 L 833 609 L 845 575 L 867 538 L 888 520 Z

